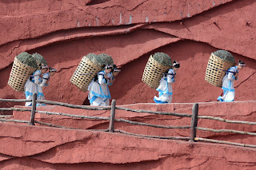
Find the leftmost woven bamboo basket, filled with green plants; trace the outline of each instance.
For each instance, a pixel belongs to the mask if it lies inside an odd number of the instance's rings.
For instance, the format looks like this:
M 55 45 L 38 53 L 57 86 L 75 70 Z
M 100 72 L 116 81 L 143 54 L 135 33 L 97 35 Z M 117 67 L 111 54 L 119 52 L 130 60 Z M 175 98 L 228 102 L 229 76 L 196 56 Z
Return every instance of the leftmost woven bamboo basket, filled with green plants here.
M 23 64 L 15 57 L 13 67 L 10 71 L 8 85 L 17 91 L 24 91 L 26 81 L 35 70 L 37 70 L 37 68 Z

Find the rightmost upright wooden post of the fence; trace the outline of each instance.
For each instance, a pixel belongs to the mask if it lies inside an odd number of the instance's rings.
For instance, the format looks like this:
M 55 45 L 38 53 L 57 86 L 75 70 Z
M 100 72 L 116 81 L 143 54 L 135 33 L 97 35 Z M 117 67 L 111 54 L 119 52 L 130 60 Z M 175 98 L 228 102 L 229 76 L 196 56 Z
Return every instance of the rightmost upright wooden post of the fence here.
M 191 131 L 190 131 L 190 142 L 195 142 L 194 138 L 197 136 L 197 129 L 198 126 L 198 103 L 194 103 L 192 108 L 192 119 L 191 119 Z

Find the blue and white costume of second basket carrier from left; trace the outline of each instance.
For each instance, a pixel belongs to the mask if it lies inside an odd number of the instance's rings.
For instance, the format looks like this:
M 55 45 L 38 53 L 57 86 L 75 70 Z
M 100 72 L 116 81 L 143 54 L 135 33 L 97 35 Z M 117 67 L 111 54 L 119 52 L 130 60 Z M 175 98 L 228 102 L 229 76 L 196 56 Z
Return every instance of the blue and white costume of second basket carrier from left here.
M 108 80 L 104 78 L 105 71 L 98 73 L 98 80 L 90 82 L 88 87 L 88 99 L 90 105 L 93 106 L 107 106 L 110 105 L 110 89 L 108 85 L 112 85 L 109 79 L 113 79 L 112 73 L 107 73 Z

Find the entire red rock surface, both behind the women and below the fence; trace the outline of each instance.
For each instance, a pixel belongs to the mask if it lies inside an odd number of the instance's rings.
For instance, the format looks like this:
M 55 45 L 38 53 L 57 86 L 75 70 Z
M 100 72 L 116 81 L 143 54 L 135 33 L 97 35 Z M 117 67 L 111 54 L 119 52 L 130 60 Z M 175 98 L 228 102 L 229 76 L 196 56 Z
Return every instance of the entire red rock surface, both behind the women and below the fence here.
M 47 100 L 89 105 L 87 93 L 70 83 L 79 61 L 87 53 L 107 53 L 122 68 L 111 97 L 118 105 L 190 113 L 191 104 L 153 105 L 157 94 L 142 79 L 150 54 L 168 53 L 181 63 L 173 84 L 174 103 L 206 102 L 201 115 L 255 121 L 256 100 L 256 1 L 255 0 L 2 0 L 0 1 L 0 98 L 25 98 L 7 85 L 14 57 L 23 51 L 40 53 L 58 69 L 44 89 Z M 226 49 L 246 62 L 235 82 L 232 104 L 211 103 L 222 89 L 205 78 L 210 53 Z M 241 101 L 241 102 L 240 102 Z M 253 103 L 251 103 L 253 102 Z M 208 104 L 207 104 L 208 103 Z M 136 105 L 131 105 L 136 104 Z M 14 103 L 0 102 L 0 107 Z M 180 105 L 180 106 L 179 106 Z M 38 107 L 40 109 L 42 107 Z M 46 106 L 44 110 L 86 115 L 80 109 Z M 215 112 L 214 112 L 215 111 Z M 200 113 L 201 112 L 201 113 Z M 6 114 L 0 112 L 0 114 Z M 11 113 L 9 113 L 11 114 Z M 28 113 L 14 112 L 14 119 L 28 120 Z M 106 116 L 107 116 L 106 115 Z M 152 124 L 183 125 L 186 118 L 117 113 Z M 72 128 L 106 128 L 107 121 L 78 121 L 66 117 L 36 117 Z M 146 121 L 147 120 L 147 121 Z M 175 121 L 171 121 L 175 120 Z M 234 128 L 255 132 L 252 126 L 199 121 L 202 127 Z M 255 149 L 222 144 L 152 140 L 116 133 L 91 132 L 0 124 L 1 169 L 255 169 Z M 243 128 L 242 128 L 243 127 Z M 189 136 L 188 130 L 161 130 L 116 124 L 127 132 L 158 136 Z M 198 136 L 256 144 L 255 137 L 201 132 Z

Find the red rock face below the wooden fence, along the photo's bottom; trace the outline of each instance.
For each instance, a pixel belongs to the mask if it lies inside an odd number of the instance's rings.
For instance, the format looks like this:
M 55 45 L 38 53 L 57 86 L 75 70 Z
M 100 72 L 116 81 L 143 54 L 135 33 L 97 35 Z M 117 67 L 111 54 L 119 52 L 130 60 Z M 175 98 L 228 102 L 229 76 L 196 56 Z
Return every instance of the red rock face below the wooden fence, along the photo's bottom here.
M 0 139 L 1 169 L 255 169 L 256 166 L 255 149 L 27 125 L 1 123 L 0 128 L 4 130 L 0 134 L 4 136 Z

